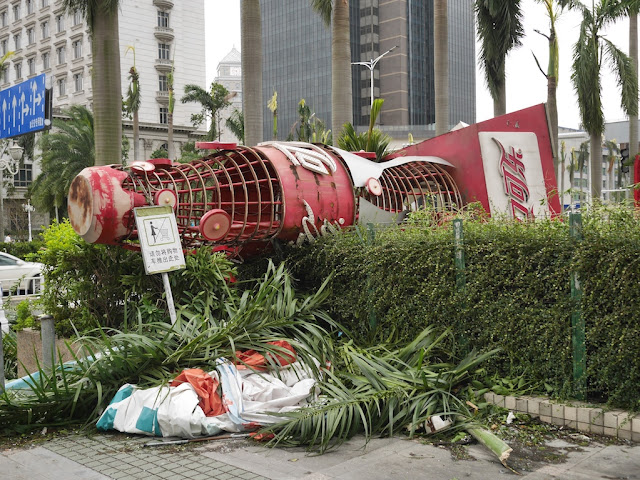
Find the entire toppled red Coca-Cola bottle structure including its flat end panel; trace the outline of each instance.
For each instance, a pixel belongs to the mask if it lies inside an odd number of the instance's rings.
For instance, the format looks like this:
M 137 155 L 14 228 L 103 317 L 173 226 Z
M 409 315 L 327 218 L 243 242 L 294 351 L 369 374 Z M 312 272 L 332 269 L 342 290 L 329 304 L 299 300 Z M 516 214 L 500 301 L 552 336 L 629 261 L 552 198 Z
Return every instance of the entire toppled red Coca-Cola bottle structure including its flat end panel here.
M 170 205 L 185 249 L 213 245 L 237 255 L 276 239 L 313 240 L 356 222 L 400 223 L 411 211 L 439 214 L 475 201 L 515 218 L 560 213 L 544 105 L 406 147 L 382 163 L 367 152 L 301 142 L 203 146 L 213 153 L 190 163 L 83 170 L 69 192 L 74 229 L 89 242 L 136 248 L 133 209 Z

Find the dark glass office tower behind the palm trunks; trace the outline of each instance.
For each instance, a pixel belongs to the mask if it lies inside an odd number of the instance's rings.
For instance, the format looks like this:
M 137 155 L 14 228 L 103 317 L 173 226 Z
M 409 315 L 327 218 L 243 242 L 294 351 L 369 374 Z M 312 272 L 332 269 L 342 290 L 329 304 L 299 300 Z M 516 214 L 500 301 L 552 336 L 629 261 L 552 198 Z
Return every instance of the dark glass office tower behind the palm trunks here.
M 263 98 L 278 91 L 281 138 L 297 120 L 304 98 L 316 116 L 331 119 L 331 33 L 309 0 L 262 0 Z M 475 31 L 473 5 L 449 0 L 449 94 L 452 126 L 475 122 Z M 433 2 L 350 0 L 352 62 L 370 61 L 391 49 L 374 69 L 374 97 L 384 98 L 379 117 L 396 138 L 435 131 Z M 369 122 L 371 71 L 352 70 L 355 125 Z M 265 108 L 265 138 L 271 119 Z M 287 129 L 287 132 L 284 130 Z

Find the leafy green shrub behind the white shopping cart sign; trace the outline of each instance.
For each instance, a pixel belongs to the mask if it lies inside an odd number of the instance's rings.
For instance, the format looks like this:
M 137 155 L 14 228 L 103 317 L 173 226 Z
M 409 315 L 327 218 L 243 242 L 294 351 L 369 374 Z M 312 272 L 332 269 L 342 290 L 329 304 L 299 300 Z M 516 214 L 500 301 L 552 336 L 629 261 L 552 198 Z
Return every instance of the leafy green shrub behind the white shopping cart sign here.
M 56 331 L 72 336 L 97 326 L 120 328 L 129 318 L 168 317 L 160 275 L 146 275 L 142 256 L 119 246 L 85 242 L 68 221 L 43 232 L 45 248 L 37 253 L 44 267 L 41 306 L 53 315 Z M 169 279 L 176 304 L 221 298 L 221 278 L 235 274 L 231 262 L 211 249 L 185 257 L 187 268 Z M 216 305 L 216 308 L 222 308 Z

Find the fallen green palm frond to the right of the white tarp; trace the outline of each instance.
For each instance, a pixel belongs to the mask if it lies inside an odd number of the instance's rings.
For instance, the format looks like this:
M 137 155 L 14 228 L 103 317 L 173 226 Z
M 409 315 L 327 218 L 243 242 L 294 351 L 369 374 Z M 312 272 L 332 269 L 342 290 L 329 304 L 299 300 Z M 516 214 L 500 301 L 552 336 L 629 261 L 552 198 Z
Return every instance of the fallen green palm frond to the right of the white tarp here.
M 275 433 L 275 445 L 306 445 L 324 453 L 356 433 L 369 439 L 408 426 L 413 434 L 434 415 L 456 420 L 454 428 L 465 428 L 472 414 L 464 389 L 495 352 L 471 352 L 456 361 L 445 348 L 447 338 L 448 332 L 437 335 L 427 327 L 401 348 L 346 344 L 339 350 L 341 368 L 320 383 L 323 400 L 284 414 L 281 423 L 265 431 Z

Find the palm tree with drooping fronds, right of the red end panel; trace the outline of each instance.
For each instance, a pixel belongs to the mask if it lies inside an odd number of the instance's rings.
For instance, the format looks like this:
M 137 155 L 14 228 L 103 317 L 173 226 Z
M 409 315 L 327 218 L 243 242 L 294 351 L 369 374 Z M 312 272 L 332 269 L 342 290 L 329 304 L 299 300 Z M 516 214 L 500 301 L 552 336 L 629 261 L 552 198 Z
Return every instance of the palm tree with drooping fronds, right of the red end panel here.
M 590 136 L 591 144 L 591 198 L 600 199 L 602 193 L 602 111 L 601 73 L 605 62 L 612 67 L 621 87 L 621 105 L 627 115 L 638 114 L 638 77 L 631 59 L 616 47 L 602 30 L 626 14 L 625 4 L 592 0 L 591 9 L 580 2 L 571 8 L 582 13 L 580 35 L 573 48 L 571 80 L 578 95 L 582 125 Z

